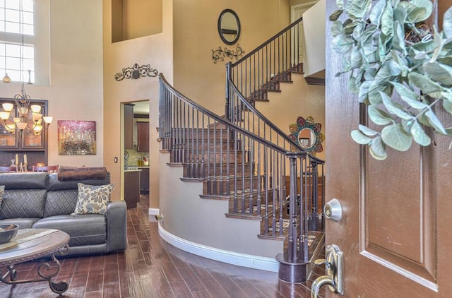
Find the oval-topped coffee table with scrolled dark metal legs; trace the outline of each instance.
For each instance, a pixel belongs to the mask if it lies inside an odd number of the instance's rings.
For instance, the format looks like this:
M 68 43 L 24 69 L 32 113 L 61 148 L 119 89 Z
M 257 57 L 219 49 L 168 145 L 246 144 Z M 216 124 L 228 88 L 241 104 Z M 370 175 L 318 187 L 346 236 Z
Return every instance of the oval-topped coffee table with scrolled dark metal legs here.
M 52 278 L 57 276 L 61 265 L 55 253 L 65 254 L 69 249 L 69 234 L 53 229 L 23 229 L 18 230 L 16 237 L 11 242 L 0 244 L 0 281 L 8 285 L 16 285 L 25 282 L 49 282 L 50 289 L 62 294 L 69 288 L 66 281 L 53 282 Z M 41 263 L 37 266 L 37 274 L 40 278 L 30 280 L 18 280 L 14 265 L 26 261 L 36 260 L 45 256 L 51 256 L 56 267 L 49 263 Z M 4 273 L 3 268 L 6 267 Z

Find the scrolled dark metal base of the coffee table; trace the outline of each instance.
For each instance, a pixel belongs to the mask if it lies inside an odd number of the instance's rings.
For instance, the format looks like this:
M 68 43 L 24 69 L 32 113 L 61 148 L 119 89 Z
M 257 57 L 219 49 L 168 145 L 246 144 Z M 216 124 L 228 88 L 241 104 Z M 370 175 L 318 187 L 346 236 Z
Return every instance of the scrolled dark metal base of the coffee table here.
M 36 279 L 32 279 L 32 280 L 17 280 L 16 269 L 14 269 L 13 265 L 11 265 L 11 266 L 6 266 L 6 268 L 8 268 L 8 270 L 6 271 L 5 274 L 3 274 L 3 272 L 0 270 L 0 281 L 6 283 L 8 285 L 16 285 L 16 284 L 27 283 L 27 282 L 47 281 L 47 282 L 49 282 L 50 290 L 61 295 L 62 293 L 66 292 L 66 290 L 68 290 L 69 283 L 67 283 L 66 281 L 52 282 L 52 278 L 54 278 L 55 276 L 58 275 L 59 270 L 61 268 L 61 265 L 60 265 L 59 261 L 57 260 L 57 258 L 55 258 L 54 254 L 52 254 L 52 261 L 54 261 L 57 264 L 57 267 L 55 268 L 55 270 L 52 270 L 54 272 L 52 272 L 52 271 L 50 273 L 48 272 L 49 270 L 51 270 L 51 267 L 50 267 L 49 263 L 47 263 L 47 262 L 40 264 L 40 266 L 37 266 L 37 274 L 40 275 L 41 278 L 36 278 Z

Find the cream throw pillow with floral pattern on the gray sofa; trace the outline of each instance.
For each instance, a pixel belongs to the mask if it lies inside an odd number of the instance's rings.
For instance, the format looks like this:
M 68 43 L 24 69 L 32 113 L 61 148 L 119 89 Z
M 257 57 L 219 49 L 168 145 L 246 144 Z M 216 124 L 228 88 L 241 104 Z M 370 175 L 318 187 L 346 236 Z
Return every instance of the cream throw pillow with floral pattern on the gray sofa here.
M 78 183 L 76 214 L 105 214 L 114 184 L 88 185 Z

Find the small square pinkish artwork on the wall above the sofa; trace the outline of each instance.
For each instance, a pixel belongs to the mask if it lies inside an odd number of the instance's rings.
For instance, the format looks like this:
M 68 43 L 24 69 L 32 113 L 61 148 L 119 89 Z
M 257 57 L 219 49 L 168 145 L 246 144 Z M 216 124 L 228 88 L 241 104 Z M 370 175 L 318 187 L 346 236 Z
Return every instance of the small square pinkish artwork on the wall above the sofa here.
M 58 155 L 95 155 L 96 121 L 58 120 Z

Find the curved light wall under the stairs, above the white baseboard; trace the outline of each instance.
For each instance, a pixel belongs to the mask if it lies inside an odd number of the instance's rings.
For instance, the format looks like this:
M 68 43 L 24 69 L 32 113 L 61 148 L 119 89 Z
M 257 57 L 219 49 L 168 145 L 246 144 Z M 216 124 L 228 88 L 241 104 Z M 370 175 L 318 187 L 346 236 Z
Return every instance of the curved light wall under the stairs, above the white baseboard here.
M 162 184 L 160 224 L 169 233 L 189 242 L 239 254 L 274 258 L 283 242 L 259 239 L 261 222 L 225 216 L 228 201 L 200 198 L 202 181 L 181 181 L 182 167 L 168 167 L 169 153 L 160 153 Z

